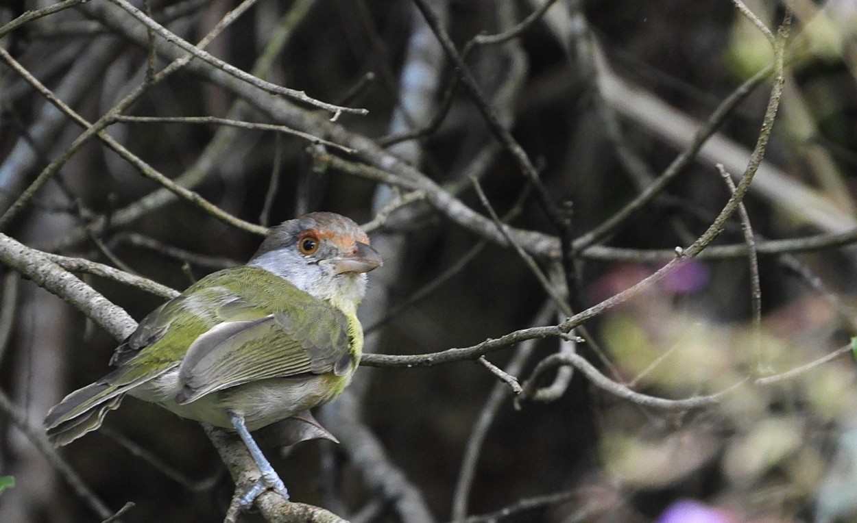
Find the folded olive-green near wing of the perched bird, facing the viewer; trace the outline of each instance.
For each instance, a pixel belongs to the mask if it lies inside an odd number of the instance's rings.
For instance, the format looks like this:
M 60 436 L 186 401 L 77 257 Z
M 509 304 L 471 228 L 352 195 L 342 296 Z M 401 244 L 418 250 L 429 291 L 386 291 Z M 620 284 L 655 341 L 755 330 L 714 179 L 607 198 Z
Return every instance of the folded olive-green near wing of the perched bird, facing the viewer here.
M 345 313 L 297 293 L 278 312 L 224 322 L 196 338 L 179 366 L 183 389 L 177 401 L 272 377 L 351 371 L 356 362 Z

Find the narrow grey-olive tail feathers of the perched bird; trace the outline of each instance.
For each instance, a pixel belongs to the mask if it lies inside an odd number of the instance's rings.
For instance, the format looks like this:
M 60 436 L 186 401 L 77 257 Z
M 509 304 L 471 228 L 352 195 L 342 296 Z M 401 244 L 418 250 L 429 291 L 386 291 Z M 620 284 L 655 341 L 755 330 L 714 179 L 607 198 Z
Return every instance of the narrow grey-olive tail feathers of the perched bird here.
M 45 416 L 48 439 L 55 445 L 75 441 L 101 426 L 105 414 L 119 407 L 125 393 L 142 381 L 121 379 L 123 369 L 117 369 L 99 381 L 65 396 Z M 119 379 L 117 379 L 119 378 Z

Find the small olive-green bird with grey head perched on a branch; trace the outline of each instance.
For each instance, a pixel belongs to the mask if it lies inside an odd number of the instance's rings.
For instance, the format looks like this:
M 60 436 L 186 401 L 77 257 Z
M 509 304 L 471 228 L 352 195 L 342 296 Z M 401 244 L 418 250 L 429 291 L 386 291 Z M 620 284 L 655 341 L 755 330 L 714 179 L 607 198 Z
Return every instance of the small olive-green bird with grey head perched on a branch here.
M 357 304 L 380 266 L 369 237 L 339 214 L 274 227 L 248 264 L 202 278 L 144 318 L 114 352 L 116 370 L 51 408 L 48 436 L 64 445 L 94 431 L 132 395 L 237 431 L 262 472 L 244 506 L 266 488 L 288 499 L 249 431 L 306 419 L 345 389 L 363 349 Z

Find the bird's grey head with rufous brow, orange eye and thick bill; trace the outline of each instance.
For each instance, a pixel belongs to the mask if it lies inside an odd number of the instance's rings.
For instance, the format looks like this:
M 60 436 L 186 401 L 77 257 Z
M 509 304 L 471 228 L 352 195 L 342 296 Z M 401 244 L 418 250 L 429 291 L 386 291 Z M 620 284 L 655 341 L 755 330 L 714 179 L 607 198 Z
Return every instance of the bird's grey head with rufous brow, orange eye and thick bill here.
M 310 212 L 273 227 L 248 265 L 289 280 L 297 288 L 352 308 L 366 292 L 366 273 L 381 266 L 369 236 L 334 212 Z

